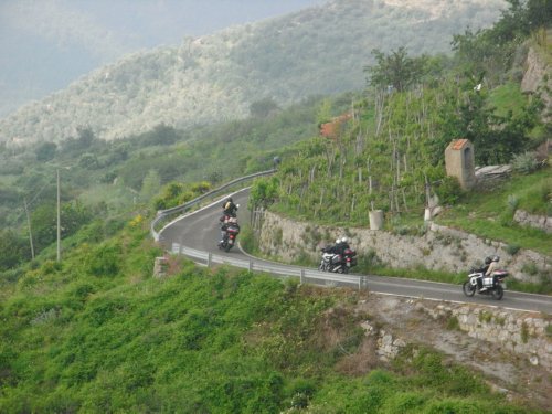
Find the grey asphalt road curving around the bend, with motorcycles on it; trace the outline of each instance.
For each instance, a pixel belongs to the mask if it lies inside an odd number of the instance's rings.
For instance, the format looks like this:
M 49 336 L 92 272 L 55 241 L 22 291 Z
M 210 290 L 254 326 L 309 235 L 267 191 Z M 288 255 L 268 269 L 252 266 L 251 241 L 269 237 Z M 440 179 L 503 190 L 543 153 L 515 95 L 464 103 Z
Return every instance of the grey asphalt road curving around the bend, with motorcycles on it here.
M 233 194 L 234 202 L 241 204 L 238 211 L 238 221 L 245 223 L 248 220 L 247 205 L 248 190 L 242 190 Z M 222 202 L 215 202 L 195 212 L 185 214 L 173 222 L 166 225 L 159 233 L 159 242 L 168 251 L 173 250 L 173 245 L 192 247 L 198 251 L 205 252 L 205 254 L 231 259 L 242 259 L 250 262 L 250 268 L 269 268 L 275 266 L 274 262 L 264 261 L 261 258 L 252 257 L 240 248 L 234 248 L 227 253 L 220 251 L 216 246 L 220 237 L 219 217 L 222 213 Z M 238 237 L 240 238 L 240 237 Z M 317 272 L 306 270 L 305 268 L 277 264 L 278 268 L 289 270 L 289 275 L 301 275 L 305 272 L 316 274 Z M 280 273 L 282 274 L 282 273 Z M 497 301 L 488 296 L 476 295 L 475 297 L 467 298 L 461 291 L 460 285 L 424 282 L 405 279 L 397 277 L 382 277 L 374 275 L 349 275 L 358 277 L 362 280 L 363 286 L 368 287 L 371 291 L 397 295 L 412 298 L 424 298 L 434 300 L 446 300 L 454 302 L 471 302 L 485 306 L 501 307 L 505 309 L 540 311 L 552 315 L 552 297 L 544 295 L 532 295 L 517 291 L 506 290 L 502 300 Z M 316 278 L 316 276 L 314 276 Z M 326 283 L 328 285 L 328 283 Z M 331 284 L 330 286 L 339 286 L 339 284 Z

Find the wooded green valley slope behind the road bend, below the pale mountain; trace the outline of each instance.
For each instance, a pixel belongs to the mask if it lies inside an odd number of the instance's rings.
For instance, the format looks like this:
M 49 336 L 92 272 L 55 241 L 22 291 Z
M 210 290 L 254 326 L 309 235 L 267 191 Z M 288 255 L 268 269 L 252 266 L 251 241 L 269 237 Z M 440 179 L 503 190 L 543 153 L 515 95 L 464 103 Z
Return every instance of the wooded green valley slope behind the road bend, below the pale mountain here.
M 53 146 L 55 151 L 47 159 L 24 149 L 0 151 L 0 223 L 4 227 L 0 244 L 9 246 L 0 257 L 0 269 L 31 258 L 24 200 L 35 253 L 55 241 L 56 170 L 62 238 L 66 238 L 94 217 L 109 222 L 128 211 L 167 209 L 236 176 L 273 168 L 277 148 L 315 134 L 312 119 L 319 102 L 307 99 L 286 109 L 273 108 L 264 118 L 187 131 L 158 126 L 114 142 L 79 129 L 75 138 Z M 94 162 L 82 162 L 83 152 Z

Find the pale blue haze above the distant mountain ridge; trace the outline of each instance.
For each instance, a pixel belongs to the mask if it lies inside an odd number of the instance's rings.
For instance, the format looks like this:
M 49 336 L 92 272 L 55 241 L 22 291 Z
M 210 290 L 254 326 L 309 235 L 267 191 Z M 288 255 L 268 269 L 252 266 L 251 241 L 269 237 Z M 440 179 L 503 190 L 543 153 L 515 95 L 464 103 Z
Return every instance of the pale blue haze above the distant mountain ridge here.
M 326 1 L 0 0 L 0 116 L 125 53 Z

